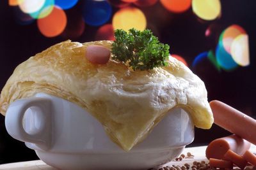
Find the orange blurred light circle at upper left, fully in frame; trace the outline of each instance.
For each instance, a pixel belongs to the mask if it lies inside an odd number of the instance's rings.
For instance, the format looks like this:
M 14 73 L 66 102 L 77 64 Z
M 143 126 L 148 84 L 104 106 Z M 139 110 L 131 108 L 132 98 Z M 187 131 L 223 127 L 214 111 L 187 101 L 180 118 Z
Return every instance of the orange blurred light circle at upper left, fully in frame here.
M 61 34 L 67 25 L 67 16 L 65 11 L 54 6 L 50 15 L 37 20 L 39 31 L 46 37 L 54 37 Z

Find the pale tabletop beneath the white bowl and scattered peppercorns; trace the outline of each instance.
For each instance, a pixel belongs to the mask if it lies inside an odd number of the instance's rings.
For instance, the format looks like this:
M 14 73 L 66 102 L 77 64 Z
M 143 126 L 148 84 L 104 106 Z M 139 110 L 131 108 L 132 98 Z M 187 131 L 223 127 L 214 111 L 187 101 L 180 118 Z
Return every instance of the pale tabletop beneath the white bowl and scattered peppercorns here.
M 192 153 L 194 157 L 191 158 L 185 158 L 181 161 L 172 161 L 168 164 L 164 164 L 163 166 L 182 166 L 186 163 L 193 164 L 194 161 L 202 161 L 208 162 L 207 158 L 205 157 L 205 149 L 207 146 L 198 146 L 198 147 L 191 147 L 191 148 L 185 148 L 182 153 L 184 155 L 187 155 L 188 152 Z M 251 152 L 256 152 L 256 146 L 252 145 L 250 148 Z M 162 167 L 163 167 L 162 166 Z M 158 167 L 159 168 L 159 167 Z M 158 169 L 157 168 L 157 169 Z M 57 170 L 54 167 L 48 166 L 45 164 L 42 160 L 32 160 L 27 162 L 15 162 L 11 164 L 1 164 L 0 169 L 4 170 Z

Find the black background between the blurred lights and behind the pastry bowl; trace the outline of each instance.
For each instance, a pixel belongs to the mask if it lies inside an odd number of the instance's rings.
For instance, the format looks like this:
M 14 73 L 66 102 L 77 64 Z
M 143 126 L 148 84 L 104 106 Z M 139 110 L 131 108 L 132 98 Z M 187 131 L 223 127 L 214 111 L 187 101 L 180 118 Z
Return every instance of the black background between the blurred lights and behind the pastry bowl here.
M 80 4 L 81 1 L 72 10 L 79 10 Z M 72 10 L 67 10 L 67 12 L 72 13 Z M 116 10 L 118 9 L 113 7 L 113 13 Z M 209 101 L 218 99 L 237 110 L 256 117 L 255 0 L 223 0 L 221 1 L 221 17 L 213 21 L 200 20 L 191 9 L 179 14 L 170 13 L 164 10 L 159 2 L 154 6 L 141 8 L 141 10 L 147 17 L 148 27 L 155 25 L 154 33 L 159 36 L 159 40 L 170 45 L 170 53 L 179 53 L 184 57 L 189 68 L 205 82 Z M 166 22 L 169 18 L 172 18 L 170 22 Z M 109 23 L 111 23 L 111 19 Z M 205 37 L 205 30 L 212 24 L 214 25 L 212 35 Z M 214 50 L 220 32 L 232 24 L 241 25 L 249 36 L 250 66 L 237 67 L 233 71 L 218 71 L 209 60 L 202 60 L 192 67 L 196 55 Z M 72 40 L 93 41 L 98 28 L 86 25 L 84 34 Z M 44 37 L 38 31 L 36 22 L 29 25 L 17 24 L 13 9 L 8 6 L 8 1 L 0 1 L 0 90 L 20 62 L 64 40 L 63 36 Z M 195 140 L 189 146 L 207 145 L 212 139 L 228 134 L 230 133 L 216 125 L 213 125 L 210 130 L 196 128 Z M 35 159 L 38 158 L 33 150 L 26 148 L 24 143 L 7 134 L 4 117 L 0 115 L 0 164 Z

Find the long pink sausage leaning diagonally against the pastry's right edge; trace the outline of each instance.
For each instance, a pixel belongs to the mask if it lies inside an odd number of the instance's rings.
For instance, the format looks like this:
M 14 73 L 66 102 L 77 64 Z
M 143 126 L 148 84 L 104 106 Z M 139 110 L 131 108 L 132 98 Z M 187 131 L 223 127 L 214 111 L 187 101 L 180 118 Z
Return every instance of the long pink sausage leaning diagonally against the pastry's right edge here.
M 220 101 L 211 101 L 214 124 L 256 145 L 256 120 Z

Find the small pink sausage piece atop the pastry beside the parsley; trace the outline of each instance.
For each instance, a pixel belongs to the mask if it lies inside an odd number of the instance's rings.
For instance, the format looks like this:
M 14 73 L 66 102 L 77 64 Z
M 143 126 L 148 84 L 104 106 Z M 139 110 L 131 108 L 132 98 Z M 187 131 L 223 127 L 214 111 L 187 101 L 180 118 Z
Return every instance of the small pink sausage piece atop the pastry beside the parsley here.
M 93 64 L 106 64 L 110 58 L 110 50 L 101 45 L 89 45 L 85 56 Z

